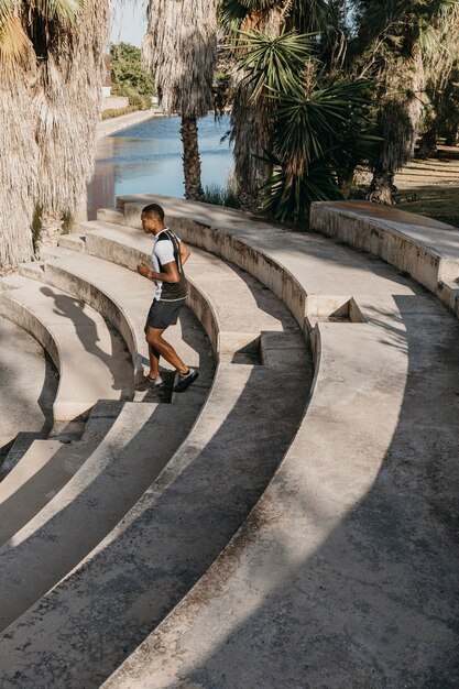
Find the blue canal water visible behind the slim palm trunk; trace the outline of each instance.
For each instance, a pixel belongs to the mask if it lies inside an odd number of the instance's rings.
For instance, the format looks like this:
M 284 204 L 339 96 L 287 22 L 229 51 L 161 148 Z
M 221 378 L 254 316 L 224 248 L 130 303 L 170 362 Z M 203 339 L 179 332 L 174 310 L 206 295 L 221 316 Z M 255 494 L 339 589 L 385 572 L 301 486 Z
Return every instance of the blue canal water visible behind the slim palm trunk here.
M 184 196 L 182 141 L 178 117 L 151 120 L 105 136 L 98 143 L 96 171 L 88 187 L 88 217 L 97 208 L 114 206 L 123 194 Z M 203 186 L 225 186 L 233 167 L 232 152 L 225 139 L 229 117 L 198 121 Z

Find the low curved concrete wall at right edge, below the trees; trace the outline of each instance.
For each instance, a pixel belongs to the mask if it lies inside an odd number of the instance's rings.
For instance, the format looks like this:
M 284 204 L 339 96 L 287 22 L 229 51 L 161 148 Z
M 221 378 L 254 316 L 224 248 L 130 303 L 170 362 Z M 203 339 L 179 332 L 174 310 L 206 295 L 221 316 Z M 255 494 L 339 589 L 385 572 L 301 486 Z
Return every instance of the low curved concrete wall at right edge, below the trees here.
M 437 293 L 459 278 L 459 229 L 369 201 L 313 204 L 310 227 L 380 256 Z

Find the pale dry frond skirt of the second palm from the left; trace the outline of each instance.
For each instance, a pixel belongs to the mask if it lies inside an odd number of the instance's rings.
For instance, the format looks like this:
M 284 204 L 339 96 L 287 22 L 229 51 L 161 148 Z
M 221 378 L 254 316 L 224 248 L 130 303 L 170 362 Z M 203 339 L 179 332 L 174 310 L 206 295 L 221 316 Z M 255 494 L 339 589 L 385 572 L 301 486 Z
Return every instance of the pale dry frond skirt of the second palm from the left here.
M 94 169 L 107 2 L 88 0 L 78 31 L 62 30 L 39 66 L 34 97 L 40 147 L 37 201 L 45 214 L 73 214 Z

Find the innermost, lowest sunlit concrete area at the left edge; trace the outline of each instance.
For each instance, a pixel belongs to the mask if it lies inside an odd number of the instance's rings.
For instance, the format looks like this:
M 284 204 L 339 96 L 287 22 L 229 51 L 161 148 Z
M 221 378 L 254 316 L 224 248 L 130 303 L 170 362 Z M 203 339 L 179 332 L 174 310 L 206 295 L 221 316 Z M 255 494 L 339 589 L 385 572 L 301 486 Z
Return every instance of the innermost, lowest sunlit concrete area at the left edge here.
M 50 422 L 54 380 L 43 349 L 22 328 L 0 317 L 0 448 L 21 431 L 40 433 Z

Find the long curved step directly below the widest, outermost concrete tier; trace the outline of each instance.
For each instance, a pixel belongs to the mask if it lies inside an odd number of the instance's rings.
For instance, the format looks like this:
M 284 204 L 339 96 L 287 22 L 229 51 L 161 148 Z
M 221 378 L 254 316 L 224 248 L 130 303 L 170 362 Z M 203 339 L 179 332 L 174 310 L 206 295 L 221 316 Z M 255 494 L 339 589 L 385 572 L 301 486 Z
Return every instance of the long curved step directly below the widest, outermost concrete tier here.
M 96 243 L 91 242 L 97 237 L 100 252 L 113 259 L 111 252 L 116 251 L 118 261 L 132 265 L 132 251 L 139 242 L 145 248 L 151 242 L 145 244 L 144 237 L 130 230 L 120 237 L 118 229 L 99 223 L 94 233 L 88 230 L 88 250 L 94 250 Z M 43 628 L 43 634 L 62 639 L 61 649 L 53 645 L 52 652 L 57 654 L 55 658 L 61 656 L 57 665 L 68 670 L 59 679 L 62 686 L 78 681 L 96 687 L 204 573 L 263 492 L 303 417 L 310 362 L 303 336 L 285 307 L 243 271 L 197 250 L 187 274 L 190 282 L 196 280 L 194 288 L 200 295 L 195 295 L 197 309 L 204 311 L 204 304 L 210 305 L 216 342 L 221 333 L 234 335 L 231 342 L 228 339 L 228 352 L 234 357 L 256 338 L 274 365 L 229 363 L 220 357 L 206 405 L 162 474 L 81 567 L 53 589 L 53 632 Z M 248 322 L 253 330 L 247 339 Z M 238 340 L 236 336 L 243 337 Z M 291 357 L 282 360 L 284 347 L 295 353 L 295 367 Z M 171 408 L 182 409 L 197 389 L 198 383 L 177 395 Z M 239 442 L 242 437 L 243 444 Z M 133 580 L 134 588 L 129 583 Z M 62 636 L 64 609 L 67 615 L 73 610 L 77 634 L 87 639 L 86 646 L 97 648 L 113 604 L 117 625 L 111 625 L 111 641 L 103 644 L 103 659 L 95 675 L 95 668 Z M 18 625 L 39 638 L 40 610 L 47 605 L 44 597 L 10 625 L 6 638 L 15 644 Z M 8 619 L 12 617 L 10 613 Z M 31 671 L 37 657 L 34 653 L 30 647 L 26 663 Z M 46 677 L 44 685 L 53 681 Z M 21 683 L 26 686 L 26 674 L 21 674 Z

